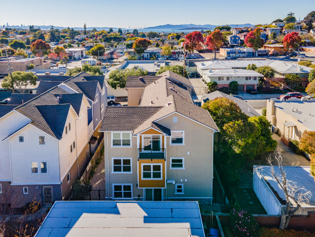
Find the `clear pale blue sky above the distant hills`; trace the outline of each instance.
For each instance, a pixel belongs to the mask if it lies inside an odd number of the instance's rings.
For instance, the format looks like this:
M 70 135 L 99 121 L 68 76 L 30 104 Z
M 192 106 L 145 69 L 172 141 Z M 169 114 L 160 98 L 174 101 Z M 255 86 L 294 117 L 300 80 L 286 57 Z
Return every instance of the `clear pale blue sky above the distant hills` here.
M 264 24 L 291 11 L 303 19 L 315 10 L 315 0 L 304 0 L 302 5 L 296 0 L 0 0 L 0 5 L 0 25 L 82 27 L 86 23 L 88 27 L 121 28 Z

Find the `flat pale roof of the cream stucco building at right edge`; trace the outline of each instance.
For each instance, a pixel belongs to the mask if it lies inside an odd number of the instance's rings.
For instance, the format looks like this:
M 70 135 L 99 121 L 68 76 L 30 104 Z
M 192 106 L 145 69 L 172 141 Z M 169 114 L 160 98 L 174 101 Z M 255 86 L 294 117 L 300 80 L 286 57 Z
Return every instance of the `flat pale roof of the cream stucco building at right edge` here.
M 275 102 L 277 109 L 291 115 L 311 131 L 315 131 L 315 99 L 306 101 L 297 98 L 286 101 L 271 100 Z

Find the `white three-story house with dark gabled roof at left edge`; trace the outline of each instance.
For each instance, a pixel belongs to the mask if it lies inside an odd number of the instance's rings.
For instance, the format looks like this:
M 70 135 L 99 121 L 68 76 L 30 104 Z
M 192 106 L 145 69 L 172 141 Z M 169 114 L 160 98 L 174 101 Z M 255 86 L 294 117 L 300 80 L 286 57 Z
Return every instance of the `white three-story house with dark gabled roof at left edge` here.
M 58 87 L 0 106 L 0 203 L 67 197 L 88 160 L 88 107 L 84 94 Z

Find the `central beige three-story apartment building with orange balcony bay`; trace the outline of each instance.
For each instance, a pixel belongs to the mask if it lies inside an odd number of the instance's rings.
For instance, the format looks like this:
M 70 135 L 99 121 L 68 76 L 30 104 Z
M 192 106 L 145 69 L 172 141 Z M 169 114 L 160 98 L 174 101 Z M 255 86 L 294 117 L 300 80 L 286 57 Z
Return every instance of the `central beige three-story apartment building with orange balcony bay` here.
M 218 128 L 181 82 L 160 75 L 143 89 L 140 106 L 106 107 L 100 131 L 110 200 L 211 201 Z

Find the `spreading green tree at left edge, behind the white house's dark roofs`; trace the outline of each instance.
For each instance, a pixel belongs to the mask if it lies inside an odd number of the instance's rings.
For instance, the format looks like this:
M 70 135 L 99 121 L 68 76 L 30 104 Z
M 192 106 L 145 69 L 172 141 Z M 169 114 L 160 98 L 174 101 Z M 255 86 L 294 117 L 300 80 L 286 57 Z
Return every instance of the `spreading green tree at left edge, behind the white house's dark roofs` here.
M 26 86 L 36 85 L 37 77 L 32 72 L 14 71 L 11 75 L 4 77 L 1 86 L 5 89 L 16 89 L 20 93 L 25 93 Z

